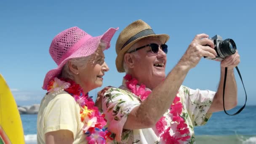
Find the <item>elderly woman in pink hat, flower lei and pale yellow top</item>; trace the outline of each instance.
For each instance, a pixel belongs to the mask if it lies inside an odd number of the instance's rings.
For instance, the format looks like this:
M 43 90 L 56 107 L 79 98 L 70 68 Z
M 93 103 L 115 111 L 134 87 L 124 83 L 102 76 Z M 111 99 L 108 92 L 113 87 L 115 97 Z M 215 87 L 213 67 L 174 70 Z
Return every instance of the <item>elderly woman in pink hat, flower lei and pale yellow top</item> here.
M 118 28 L 92 37 L 71 27 L 53 38 L 49 52 L 58 67 L 44 79 L 47 90 L 37 117 L 37 143 L 105 143 L 106 121 L 88 92 L 102 85 L 109 70 L 103 51 Z

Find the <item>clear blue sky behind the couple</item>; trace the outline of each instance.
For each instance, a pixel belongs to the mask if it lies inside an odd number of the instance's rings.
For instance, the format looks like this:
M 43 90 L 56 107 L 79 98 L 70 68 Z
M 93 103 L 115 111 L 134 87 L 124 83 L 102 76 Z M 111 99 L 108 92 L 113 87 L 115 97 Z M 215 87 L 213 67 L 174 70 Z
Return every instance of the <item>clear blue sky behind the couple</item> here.
M 241 0 L 105 0 L 0 2 L 0 73 L 5 77 L 19 105 L 40 103 L 48 70 L 56 67 L 48 53 L 55 35 L 69 27 L 80 27 L 92 36 L 109 27 L 119 27 L 105 51 L 109 72 L 101 88 L 121 84 L 124 73 L 115 68 L 115 42 L 121 30 L 137 19 L 146 21 L 155 33 L 170 35 L 168 73 L 186 51 L 196 34 L 218 34 L 235 40 L 241 56 L 239 64 L 248 94 L 247 104 L 256 104 L 255 53 L 256 2 Z M 238 104 L 245 93 L 237 77 Z M 183 85 L 215 91 L 219 83 L 219 62 L 202 59 L 191 69 Z M 94 96 L 97 88 L 91 91 Z

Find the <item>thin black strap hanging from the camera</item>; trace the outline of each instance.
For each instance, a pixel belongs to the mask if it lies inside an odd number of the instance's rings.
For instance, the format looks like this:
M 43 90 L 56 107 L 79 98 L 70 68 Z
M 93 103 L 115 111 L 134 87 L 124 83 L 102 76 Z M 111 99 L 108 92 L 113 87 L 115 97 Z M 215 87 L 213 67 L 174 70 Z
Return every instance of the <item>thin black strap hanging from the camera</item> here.
M 241 74 L 240 74 L 240 71 L 238 69 L 238 67 L 235 67 L 237 69 L 237 73 L 243 83 L 243 80 L 242 80 L 242 77 L 241 77 Z M 224 99 L 224 94 L 225 94 L 225 86 L 226 86 L 226 80 L 227 80 L 227 67 L 225 67 L 225 75 L 224 75 L 224 85 L 223 85 L 223 108 L 224 108 L 224 112 L 227 114 L 227 115 L 231 115 L 231 114 L 228 114 L 226 109 L 225 109 L 225 99 Z M 245 90 L 245 86 L 243 84 L 243 89 Z M 245 91 L 245 104 L 246 104 L 246 101 L 247 101 L 247 94 L 246 94 L 246 91 Z M 241 107 L 236 113 L 232 114 L 232 115 L 237 115 L 239 114 L 244 108 L 245 108 L 245 104 L 243 105 L 243 107 Z

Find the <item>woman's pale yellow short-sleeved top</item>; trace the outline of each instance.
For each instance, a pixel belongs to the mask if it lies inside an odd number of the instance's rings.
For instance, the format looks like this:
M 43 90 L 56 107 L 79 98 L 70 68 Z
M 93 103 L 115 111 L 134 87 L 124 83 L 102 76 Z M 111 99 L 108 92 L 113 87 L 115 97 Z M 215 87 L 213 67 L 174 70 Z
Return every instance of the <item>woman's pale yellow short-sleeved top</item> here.
M 45 144 L 45 133 L 69 130 L 74 136 L 73 144 L 86 144 L 83 125 L 75 99 L 65 91 L 51 92 L 44 96 L 38 111 L 37 143 Z

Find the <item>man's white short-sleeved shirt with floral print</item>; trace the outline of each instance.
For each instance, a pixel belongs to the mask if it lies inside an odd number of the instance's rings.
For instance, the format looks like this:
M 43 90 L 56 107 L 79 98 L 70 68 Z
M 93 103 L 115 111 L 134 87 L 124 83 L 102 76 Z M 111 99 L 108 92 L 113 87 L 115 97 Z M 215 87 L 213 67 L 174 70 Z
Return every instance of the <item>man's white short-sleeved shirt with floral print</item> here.
M 199 89 L 193 90 L 191 88 L 181 86 L 176 97 L 180 98 L 182 103 L 182 117 L 189 129 L 189 139 L 185 141 L 166 142 L 163 141 L 161 135 L 163 133 L 170 133 L 173 138 L 177 137 L 177 123 L 173 122 L 173 115 L 169 108 L 161 119 L 165 125 L 163 131 L 159 132 L 158 127 L 136 130 L 125 130 L 123 125 L 127 120 L 127 116 L 131 110 L 141 104 L 139 96 L 131 93 L 126 88 L 125 83 L 119 88 L 110 88 L 102 100 L 103 112 L 106 115 L 108 131 L 112 132 L 115 137 L 109 144 L 164 144 L 164 143 L 178 143 L 178 144 L 195 144 L 194 126 L 205 125 L 211 117 L 211 113 L 207 113 L 210 108 L 215 92 Z M 149 90 L 148 88 L 146 88 Z M 171 127 L 171 128 L 170 128 Z M 158 128 L 158 131 L 157 131 Z M 168 129 L 169 128 L 169 129 Z M 180 135 L 180 134 L 179 134 Z

